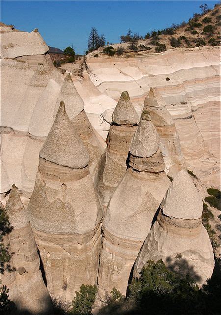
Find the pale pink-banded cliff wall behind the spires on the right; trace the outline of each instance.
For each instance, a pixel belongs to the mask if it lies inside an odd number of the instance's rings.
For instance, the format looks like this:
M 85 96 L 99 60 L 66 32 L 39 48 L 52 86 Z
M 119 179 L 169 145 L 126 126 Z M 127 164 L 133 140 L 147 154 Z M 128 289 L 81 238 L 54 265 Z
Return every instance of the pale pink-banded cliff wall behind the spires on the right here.
M 94 115 L 102 112 L 111 121 L 110 99 L 117 100 L 125 89 L 141 113 L 150 87 L 157 87 L 174 120 L 187 168 L 206 185 L 219 187 L 219 55 L 219 47 L 199 47 L 133 57 L 88 57 L 90 78 L 100 93 L 92 98 L 81 92 L 88 117 L 94 124 Z M 102 105 L 99 113 L 93 111 L 95 100 Z M 105 137 L 107 126 L 102 126 L 97 128 Z

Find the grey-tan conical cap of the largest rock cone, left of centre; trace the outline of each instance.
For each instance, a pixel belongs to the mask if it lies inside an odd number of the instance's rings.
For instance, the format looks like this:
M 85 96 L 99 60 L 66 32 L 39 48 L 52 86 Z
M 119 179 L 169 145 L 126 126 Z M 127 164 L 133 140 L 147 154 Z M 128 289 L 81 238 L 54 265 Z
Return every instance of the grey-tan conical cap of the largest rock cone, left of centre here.
M 88 152 L 66 113 L 63 101 L 39 156 L 71 168 L 84 168 L 89 163 Z

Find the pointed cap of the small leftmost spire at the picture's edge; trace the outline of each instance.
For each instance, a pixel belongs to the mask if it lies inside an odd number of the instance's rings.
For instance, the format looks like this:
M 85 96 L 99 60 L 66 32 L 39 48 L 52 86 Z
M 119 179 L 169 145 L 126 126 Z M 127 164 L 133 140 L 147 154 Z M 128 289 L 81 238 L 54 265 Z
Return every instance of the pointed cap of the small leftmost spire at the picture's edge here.
M 20 229 L 28 225 L 28 216 L 20 199 L 18 187 L 16 187 L 15 184 L 12 185 L 5 211 L 14 229 Z

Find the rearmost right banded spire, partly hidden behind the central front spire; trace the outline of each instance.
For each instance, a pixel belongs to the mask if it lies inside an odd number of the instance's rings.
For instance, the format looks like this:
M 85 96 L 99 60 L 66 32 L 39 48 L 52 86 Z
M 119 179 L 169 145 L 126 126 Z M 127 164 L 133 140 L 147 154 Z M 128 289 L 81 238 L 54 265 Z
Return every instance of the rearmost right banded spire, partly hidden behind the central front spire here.
M 150 112 L 152 123 L 160 136 L 160 149 L 166 166 L 165 172 L 173 178 L 181 169 L 185 168 L 185 160 L 173 118 L 157 88 L 150 88 L 144 100 L 144 110 Z

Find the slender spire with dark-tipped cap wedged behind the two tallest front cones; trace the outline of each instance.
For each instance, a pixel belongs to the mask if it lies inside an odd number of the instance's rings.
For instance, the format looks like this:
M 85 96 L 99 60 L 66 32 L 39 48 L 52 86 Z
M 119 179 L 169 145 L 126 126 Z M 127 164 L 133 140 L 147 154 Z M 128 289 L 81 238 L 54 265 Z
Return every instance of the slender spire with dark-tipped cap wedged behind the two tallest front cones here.
M 101 156 L 95 176 L 97 195 L 105 210 L 126 172 L 126 160 L 138 121 L 138 114 L 128 92 L 122 92 L 112 114 L 112 124 L 106 139 L 107 148 Z

